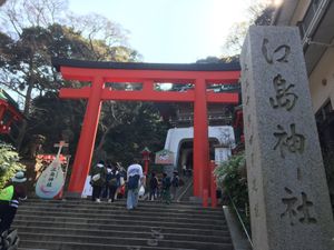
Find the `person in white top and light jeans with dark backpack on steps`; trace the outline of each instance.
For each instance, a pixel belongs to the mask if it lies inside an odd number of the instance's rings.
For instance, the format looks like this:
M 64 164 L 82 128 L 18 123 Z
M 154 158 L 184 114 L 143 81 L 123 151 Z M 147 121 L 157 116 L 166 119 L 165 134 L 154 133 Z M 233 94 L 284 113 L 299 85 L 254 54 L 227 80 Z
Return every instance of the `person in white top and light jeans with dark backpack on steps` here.
M 127 170 L 127 188 L 128 188 L 127 209 L 128 210 L 132 210 L 138 206 L 138 191 L 144 180 L 141 166 L 138 164 L 138 161 L 134 161 L 134 162 L 135 163 L 130 164 Z

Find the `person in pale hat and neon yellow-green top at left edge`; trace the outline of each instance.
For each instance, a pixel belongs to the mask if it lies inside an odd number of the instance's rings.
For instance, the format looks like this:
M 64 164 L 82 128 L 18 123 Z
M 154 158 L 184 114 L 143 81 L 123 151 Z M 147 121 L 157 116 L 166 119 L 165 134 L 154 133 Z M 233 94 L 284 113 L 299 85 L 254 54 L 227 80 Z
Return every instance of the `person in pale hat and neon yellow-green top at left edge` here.
M 24 173 L 19 171 L 11 179 L 11 182 L 0 190 L 0 236 L 10 229 L 19 208 L 19 201 L 27 199 L 27 189 L 24 187 Z

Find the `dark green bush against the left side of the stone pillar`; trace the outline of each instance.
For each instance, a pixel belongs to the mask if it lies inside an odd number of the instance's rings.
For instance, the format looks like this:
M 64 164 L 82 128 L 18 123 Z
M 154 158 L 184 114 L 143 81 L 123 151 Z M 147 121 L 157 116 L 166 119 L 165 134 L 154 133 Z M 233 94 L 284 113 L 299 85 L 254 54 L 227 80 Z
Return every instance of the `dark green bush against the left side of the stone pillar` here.
M 215 169 L 217 184 L 222 189 L 223 196 L 230 196 L 238 209 L 242 219 L 249 229 L 249 208 L 247 178 L 245 169 L 245 152 L 232 156 L 228 161 Z

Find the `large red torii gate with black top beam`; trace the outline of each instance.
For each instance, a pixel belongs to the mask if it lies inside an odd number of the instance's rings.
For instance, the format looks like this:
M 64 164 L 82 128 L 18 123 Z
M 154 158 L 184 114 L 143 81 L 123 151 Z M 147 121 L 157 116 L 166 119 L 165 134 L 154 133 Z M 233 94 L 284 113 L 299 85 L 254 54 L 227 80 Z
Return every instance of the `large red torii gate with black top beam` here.
M 66 80 L 91 82 L 81 89 L 60 89 L 63 99 L 88 99 L 68 192 L 81 194 L 89 173 L 101 102 L 106 100 L 194 102 L 194 196 L 209 190 L 209 144 L 207 102 L 238 103 L 238 93 L 207 91 L 208 83 L 236 83 L 237 63 L 163 64 L 137 62 L 98 62 L 52 59 L 52 64 Z M 139 91 L 111 90 L 106 82 L 141 82 Z M 156 91 L 158 82 L 194 83 L 186 92 Z

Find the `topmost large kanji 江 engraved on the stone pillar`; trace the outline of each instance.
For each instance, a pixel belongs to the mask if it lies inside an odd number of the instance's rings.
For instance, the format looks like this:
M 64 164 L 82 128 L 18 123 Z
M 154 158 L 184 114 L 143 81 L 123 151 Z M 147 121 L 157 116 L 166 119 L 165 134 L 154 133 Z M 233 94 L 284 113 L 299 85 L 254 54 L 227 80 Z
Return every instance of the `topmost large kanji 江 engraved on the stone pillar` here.
M 262 43 L 262 53 L 265 58 L 265 60 L 273 64 L 274 60 L 278 62 L 288 62 L 287 57 L 291 53 L 291 48 L 289 46 L 283 44 L 278 46 L 273 53 L 268 52 L 267 44 L 269 40 L 268 39 L 263 39 Z

